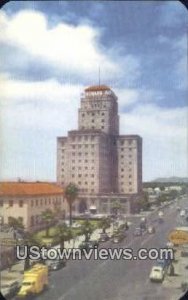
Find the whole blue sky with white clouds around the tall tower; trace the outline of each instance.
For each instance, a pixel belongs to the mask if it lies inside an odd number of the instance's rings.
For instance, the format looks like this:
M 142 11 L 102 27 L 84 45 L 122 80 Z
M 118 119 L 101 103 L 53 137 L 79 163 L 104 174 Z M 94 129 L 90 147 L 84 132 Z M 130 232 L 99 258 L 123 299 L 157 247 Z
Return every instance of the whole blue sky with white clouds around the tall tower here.
M 0 180 L 56 180 L 80 94 L 118 96 L 143 179 L 188 176 L 187 10 L 179 1 L 18 1 L 0 10 Z

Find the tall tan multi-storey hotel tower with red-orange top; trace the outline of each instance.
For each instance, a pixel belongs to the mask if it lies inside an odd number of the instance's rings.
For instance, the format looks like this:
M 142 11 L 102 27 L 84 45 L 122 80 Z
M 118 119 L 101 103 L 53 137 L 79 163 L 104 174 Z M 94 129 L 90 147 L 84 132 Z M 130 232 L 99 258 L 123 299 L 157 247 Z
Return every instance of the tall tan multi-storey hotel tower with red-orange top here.
M 75 212 L 95 207 L 109 213 L 113 202 L 134 211 L 142 192 L 142 139 L 119 135 L 118 102 L 104 85 L 86 88 L 78 130 L 57 138 L 57 182 L 79 188 Z

